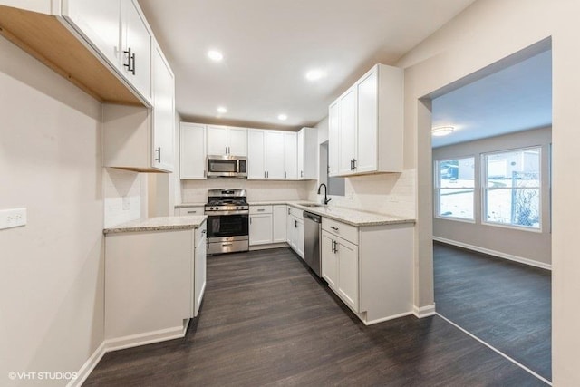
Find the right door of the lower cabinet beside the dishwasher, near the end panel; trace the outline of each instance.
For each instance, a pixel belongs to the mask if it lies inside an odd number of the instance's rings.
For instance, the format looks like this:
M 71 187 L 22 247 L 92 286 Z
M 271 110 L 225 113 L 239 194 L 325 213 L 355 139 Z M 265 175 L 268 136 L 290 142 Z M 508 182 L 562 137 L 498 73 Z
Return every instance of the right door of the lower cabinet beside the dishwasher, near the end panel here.
M 338 295 L 355 312 L 359 312 L 359 247 L 336 239 L 338 250 Z

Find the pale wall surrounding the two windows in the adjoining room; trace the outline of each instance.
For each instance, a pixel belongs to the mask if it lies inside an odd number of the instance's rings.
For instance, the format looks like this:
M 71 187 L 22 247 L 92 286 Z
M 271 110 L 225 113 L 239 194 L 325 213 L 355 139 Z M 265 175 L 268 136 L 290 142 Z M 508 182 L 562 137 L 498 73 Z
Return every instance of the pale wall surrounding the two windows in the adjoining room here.
M 463 247 L 477 247 L 478 251 L 487 250 L 488 252 L 496 252 L 500 256 L 509 256 L 536 266 L 550 266 L 552 262 L 549 187 L 549 152 L 551 139 L 551 128 L 544 128 L 533 131 L 520 131 L 505 136 L 463 142 L 433 149 L 433 160 L 474 157 L 476 181 L 479 181 L 478 172 L 481 170 L 481 153 L 539 145 L 542 147 L 543 155 L 541 164 L 541 230 L 530 231 L 482 224 L 481 192 L 475 189 L 475 221 L 470 223 L 450 220 L 449 218 L 434 218 L 433 237 L 444 238 L 447 241 L 459 243 L 459 246 Z

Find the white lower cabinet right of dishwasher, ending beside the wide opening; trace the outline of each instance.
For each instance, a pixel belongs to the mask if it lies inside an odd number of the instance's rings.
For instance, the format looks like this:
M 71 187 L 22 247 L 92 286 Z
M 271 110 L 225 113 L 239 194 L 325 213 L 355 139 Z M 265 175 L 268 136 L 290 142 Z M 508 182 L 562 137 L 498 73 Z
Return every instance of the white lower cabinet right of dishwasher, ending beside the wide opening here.
M 322 276 L 364 324 L 412 314 L 413 225 L 323 218 Z

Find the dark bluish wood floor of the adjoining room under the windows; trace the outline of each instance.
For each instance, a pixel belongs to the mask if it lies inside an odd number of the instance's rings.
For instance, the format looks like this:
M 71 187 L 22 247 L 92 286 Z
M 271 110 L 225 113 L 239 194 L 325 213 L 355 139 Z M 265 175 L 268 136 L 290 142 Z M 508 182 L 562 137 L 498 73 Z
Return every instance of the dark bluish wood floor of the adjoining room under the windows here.
M 551 380 L 549 270 L 434 243 L 439 314 Z

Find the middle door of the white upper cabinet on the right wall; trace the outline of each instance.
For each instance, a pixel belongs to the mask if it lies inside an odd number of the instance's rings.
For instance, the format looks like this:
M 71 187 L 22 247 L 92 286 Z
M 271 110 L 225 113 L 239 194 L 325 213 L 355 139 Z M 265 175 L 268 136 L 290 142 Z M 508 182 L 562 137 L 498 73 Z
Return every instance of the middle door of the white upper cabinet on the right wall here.
M 353 160 L 356 159 L 356 89 L 352 87 L 339 99 L 339 165 L 341 175 L 353 173 Z

